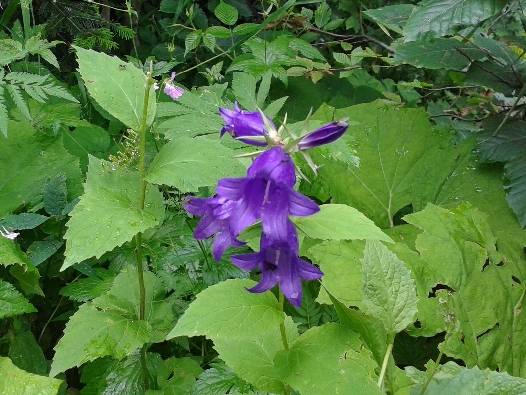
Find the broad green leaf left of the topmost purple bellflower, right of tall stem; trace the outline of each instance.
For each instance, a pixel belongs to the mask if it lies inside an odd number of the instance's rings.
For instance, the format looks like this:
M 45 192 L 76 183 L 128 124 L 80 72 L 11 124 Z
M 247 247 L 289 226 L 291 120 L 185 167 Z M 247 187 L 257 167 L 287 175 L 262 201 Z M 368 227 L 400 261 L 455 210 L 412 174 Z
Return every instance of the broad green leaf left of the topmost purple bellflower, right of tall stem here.
M 148 169 L 146 180 L 175 186 L 183 192 L 215 186 L 221 177 L 246 175 L 246 167 L 218 141 L 206 137 L 180 137 L 168 142 Z

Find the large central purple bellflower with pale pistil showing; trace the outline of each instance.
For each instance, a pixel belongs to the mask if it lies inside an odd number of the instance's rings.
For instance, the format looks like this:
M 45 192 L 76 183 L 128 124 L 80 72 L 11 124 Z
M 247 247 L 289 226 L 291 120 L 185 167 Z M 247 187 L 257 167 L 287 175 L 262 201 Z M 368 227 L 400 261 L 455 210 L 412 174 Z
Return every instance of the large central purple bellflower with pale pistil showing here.
M 286 242 L 289 215 L 308 216 L 319 211 L 316 203 L 292 189 L 295 182 L 294 164 L 279 146 L 259 155 L 246 177 L 219 180 L 217 194 L 236 201 L 230 232 L 237 236 L 260 219 L 269 238 Z

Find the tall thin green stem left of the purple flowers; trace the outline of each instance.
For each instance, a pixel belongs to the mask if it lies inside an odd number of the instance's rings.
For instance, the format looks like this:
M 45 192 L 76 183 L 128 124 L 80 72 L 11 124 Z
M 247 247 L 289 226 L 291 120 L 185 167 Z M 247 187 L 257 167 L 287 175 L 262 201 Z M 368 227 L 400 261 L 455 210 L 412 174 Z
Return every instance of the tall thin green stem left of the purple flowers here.
M 139 195 L 139 209 L 144 210 L 144 201 L 146 196 L 146 175 L 145 169 L 145 147 L 146 147 L 146 118 L 148 115 L 148 101 L 150 98 L 150 76 L 147 76 L 148 81 L 145 86 L 144 104 L 143 104 L 143 118 L 140 121 L 139 130 L 139 174 L 140 174 L 140 195 Z M 139 320 L 144 321 L 146 310 L 146 288 L 144 286 L 144 265 L 143 265 L 143 233 L 139 232 L 135 236 L 137 244 L 137 280 L 139 282 Z M 146 391 L 149 388 L 148 384 L 148 367 L 146 365 L 146 346 L 140 349 L 140 367 L 141 376 L 143 378 L 143 386 Z

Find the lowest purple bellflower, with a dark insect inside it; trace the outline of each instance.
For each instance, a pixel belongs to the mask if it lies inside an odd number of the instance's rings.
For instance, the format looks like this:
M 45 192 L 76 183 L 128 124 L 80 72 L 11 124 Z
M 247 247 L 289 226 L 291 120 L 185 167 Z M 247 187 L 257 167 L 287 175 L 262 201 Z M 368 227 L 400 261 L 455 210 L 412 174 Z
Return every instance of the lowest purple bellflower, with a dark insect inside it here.
M 294 224 L 287 221 L 287 242 L 270 239 L 261 234 L 259 252 L 232 256 L 232 262 L 244 270 L 261 271 L 261 280 L 247 291 L 262 293 L 279 283 L 279 287 L 290 303 L 301 305 L 301 279 L 318 279 L 323 275 L 315 265 L 298 256 L 298 234 Z

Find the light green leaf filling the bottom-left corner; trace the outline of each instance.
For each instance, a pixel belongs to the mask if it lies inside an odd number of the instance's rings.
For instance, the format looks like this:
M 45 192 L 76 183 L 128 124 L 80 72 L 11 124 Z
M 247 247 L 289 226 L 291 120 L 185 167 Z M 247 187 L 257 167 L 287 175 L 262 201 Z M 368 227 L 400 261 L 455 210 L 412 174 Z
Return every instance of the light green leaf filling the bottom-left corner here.
M 0 392 L 3 395 L 56 395 L 62 380 L 38 376 L 18 369 L 7 357 L 0 357 Z

